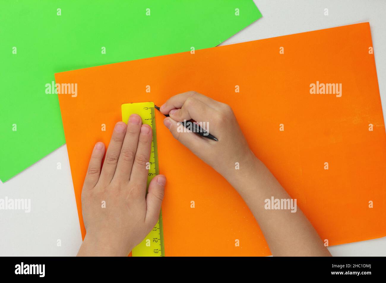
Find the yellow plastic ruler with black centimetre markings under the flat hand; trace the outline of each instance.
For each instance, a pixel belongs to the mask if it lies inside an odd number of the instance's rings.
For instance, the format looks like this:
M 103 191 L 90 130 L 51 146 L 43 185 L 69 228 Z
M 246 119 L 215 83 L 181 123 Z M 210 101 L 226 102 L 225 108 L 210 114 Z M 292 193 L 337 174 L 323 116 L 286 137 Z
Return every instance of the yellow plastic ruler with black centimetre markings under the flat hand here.
M 156 133 L 156 117 L 154 115 L 153 102 L 128 103 L 122 104 L 122 121 L 127 123 L 131 114 L 138 114 L 142 118 L 142 124 L 151 126 L 153 139 L 151 141 L 150 169 L 147 177 L 147 188 L 154 176 L 159 174 L 158 169 L 158 149 Z M 162 224 L 162 209 L 156 226 L 146 236 L 146 238 L 132 250 L 133 256 L 165 256 L 164 230 Z

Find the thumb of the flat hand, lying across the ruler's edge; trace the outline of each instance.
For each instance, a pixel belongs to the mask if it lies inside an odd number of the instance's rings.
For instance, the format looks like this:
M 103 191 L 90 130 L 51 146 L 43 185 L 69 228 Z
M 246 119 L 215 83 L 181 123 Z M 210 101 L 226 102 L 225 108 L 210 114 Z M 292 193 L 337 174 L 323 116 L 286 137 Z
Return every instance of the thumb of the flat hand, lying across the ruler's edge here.
M 162 200 L 164 199 L 166 178 L 164 175 L 158 175 L 151 180 L 149 191 L 146 196 L 146 216 L 145 222 L 154 228 L 159 218 Z

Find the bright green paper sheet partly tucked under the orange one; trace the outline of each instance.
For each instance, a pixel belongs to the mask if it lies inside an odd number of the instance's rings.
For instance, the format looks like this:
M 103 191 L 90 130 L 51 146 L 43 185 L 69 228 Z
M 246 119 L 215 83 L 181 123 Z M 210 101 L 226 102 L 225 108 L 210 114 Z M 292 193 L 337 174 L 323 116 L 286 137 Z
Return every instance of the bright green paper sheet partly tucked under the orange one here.
M 252 0 L 1 1 L 0 179 L 65 143 L 54 73 L 215 47 L 260 17 Z

